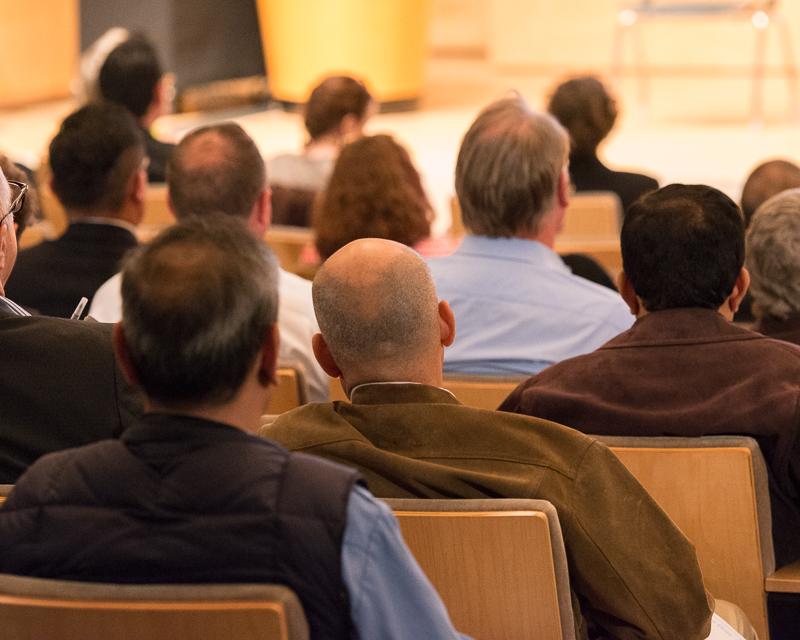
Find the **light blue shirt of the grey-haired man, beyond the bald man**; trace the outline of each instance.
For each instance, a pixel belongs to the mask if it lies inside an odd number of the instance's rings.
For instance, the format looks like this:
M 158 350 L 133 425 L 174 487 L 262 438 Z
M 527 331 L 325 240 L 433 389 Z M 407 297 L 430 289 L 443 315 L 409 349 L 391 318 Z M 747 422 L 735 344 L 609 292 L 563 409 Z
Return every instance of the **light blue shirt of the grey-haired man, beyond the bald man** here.
M 594 351 L 634 321 L 618 293 L 574 275 L 535 240 L 467 236 L 430 267 L 456 317 L 447 373 L 538 373 Z

